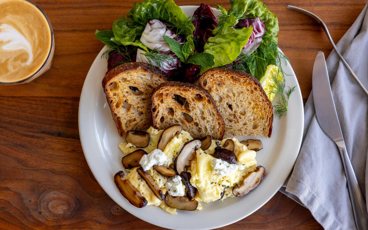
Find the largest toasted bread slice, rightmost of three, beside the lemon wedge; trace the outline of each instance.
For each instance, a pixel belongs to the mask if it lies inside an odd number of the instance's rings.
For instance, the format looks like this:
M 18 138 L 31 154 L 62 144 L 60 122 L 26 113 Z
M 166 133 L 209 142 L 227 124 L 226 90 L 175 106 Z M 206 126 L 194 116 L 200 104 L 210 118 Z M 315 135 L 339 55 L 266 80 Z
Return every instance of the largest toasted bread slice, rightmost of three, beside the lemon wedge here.
M 244 71 L 212 68 L 199 78 L 225 121 L 225 134 L 271 137 L 273 108 L 259 81 Z

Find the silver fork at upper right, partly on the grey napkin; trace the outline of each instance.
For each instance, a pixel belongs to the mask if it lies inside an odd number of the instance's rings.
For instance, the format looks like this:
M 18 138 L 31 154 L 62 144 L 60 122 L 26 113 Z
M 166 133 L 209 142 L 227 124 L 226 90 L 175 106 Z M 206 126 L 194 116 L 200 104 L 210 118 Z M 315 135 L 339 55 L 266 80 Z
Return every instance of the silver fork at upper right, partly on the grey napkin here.
M 358 84 L 360 85 L 360 87 L 364 90 L 364 92 L 368 95 L 368 91 L 367 89 L 364 87 L 364 85 L 362 84 L 362 82 L 359 80 L 359 78 L 357 77 L 357 75 L 354 73 L 354 71 L 350 68 L 349 64 L 347 64 L 347 62 L 345 61 L 345 59 L 343 58 L 343 56 L 340 54 L 339 50 L 337 50 L 337 47 L 335 45 L 335 43 L 333 42 L 330 33 L 328 32 L 328 28 L 325 24 L 325 22 L 322 21 L 321 18 L 319 18 L 317 15 L 313 14 L 312 12 L 308 11 L 308 10 L 304 10 L 302 8 L 296 7 L 296 6 L 287 6 L 288 9 L 290 10 L 295 10 L 298 11 L 300 13 L 303 13 L 305 15 L 308 15 L 309 17 L 313 18 L 314 20 L 316 20 L 319 24 L 322 25 L 323 30 L 325 31 L 326 35 L 328 36 L 328 39 L 330 40 L 333 49 L 335 49 L 337 55 L 339 55 L 340 59 L 343 61 L 343 63 L 345 64 L 345 66 L 348 68 L 348 70 L 351 72 L 351 74 L 353 74 L 355 80 L 357 80 Z

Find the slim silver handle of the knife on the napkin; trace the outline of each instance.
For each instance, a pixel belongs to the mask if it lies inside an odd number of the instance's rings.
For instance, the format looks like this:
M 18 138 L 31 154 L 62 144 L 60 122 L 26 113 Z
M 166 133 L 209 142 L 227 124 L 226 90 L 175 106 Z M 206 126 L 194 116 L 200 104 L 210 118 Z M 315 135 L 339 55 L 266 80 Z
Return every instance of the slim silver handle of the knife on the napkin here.
M 351 205 L 353 206 L 355 224 L 357 225 L 358 230 L 368 230 L 367 206 L 365 204 L 362 191 L 360 190 L 357 177 L 355 176 L 353 166 L 351 166 L 345 146 L 338 147 L 345 169 L 347 187 L 349 190 Z

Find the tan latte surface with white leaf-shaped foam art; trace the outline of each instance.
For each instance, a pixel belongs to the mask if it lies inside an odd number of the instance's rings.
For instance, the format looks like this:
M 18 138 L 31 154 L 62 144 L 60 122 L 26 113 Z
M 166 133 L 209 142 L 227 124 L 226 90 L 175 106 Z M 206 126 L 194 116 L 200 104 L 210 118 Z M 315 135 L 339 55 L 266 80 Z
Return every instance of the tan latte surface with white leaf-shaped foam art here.
M 0 0 L 0 82 L 32 76 L 51 48 L 46 17 L 25 0 Z

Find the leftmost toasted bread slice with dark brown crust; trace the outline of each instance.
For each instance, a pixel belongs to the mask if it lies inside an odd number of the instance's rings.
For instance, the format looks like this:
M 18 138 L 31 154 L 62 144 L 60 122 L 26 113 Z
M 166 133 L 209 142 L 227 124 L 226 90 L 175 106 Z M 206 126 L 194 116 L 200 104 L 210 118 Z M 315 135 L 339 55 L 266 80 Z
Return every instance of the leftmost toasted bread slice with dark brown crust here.
M 162 70 L 142 62 L 125 63 L 106 74 L 102 87 L 120 136 L 153 124 L 152 91 L 167 79 Z

